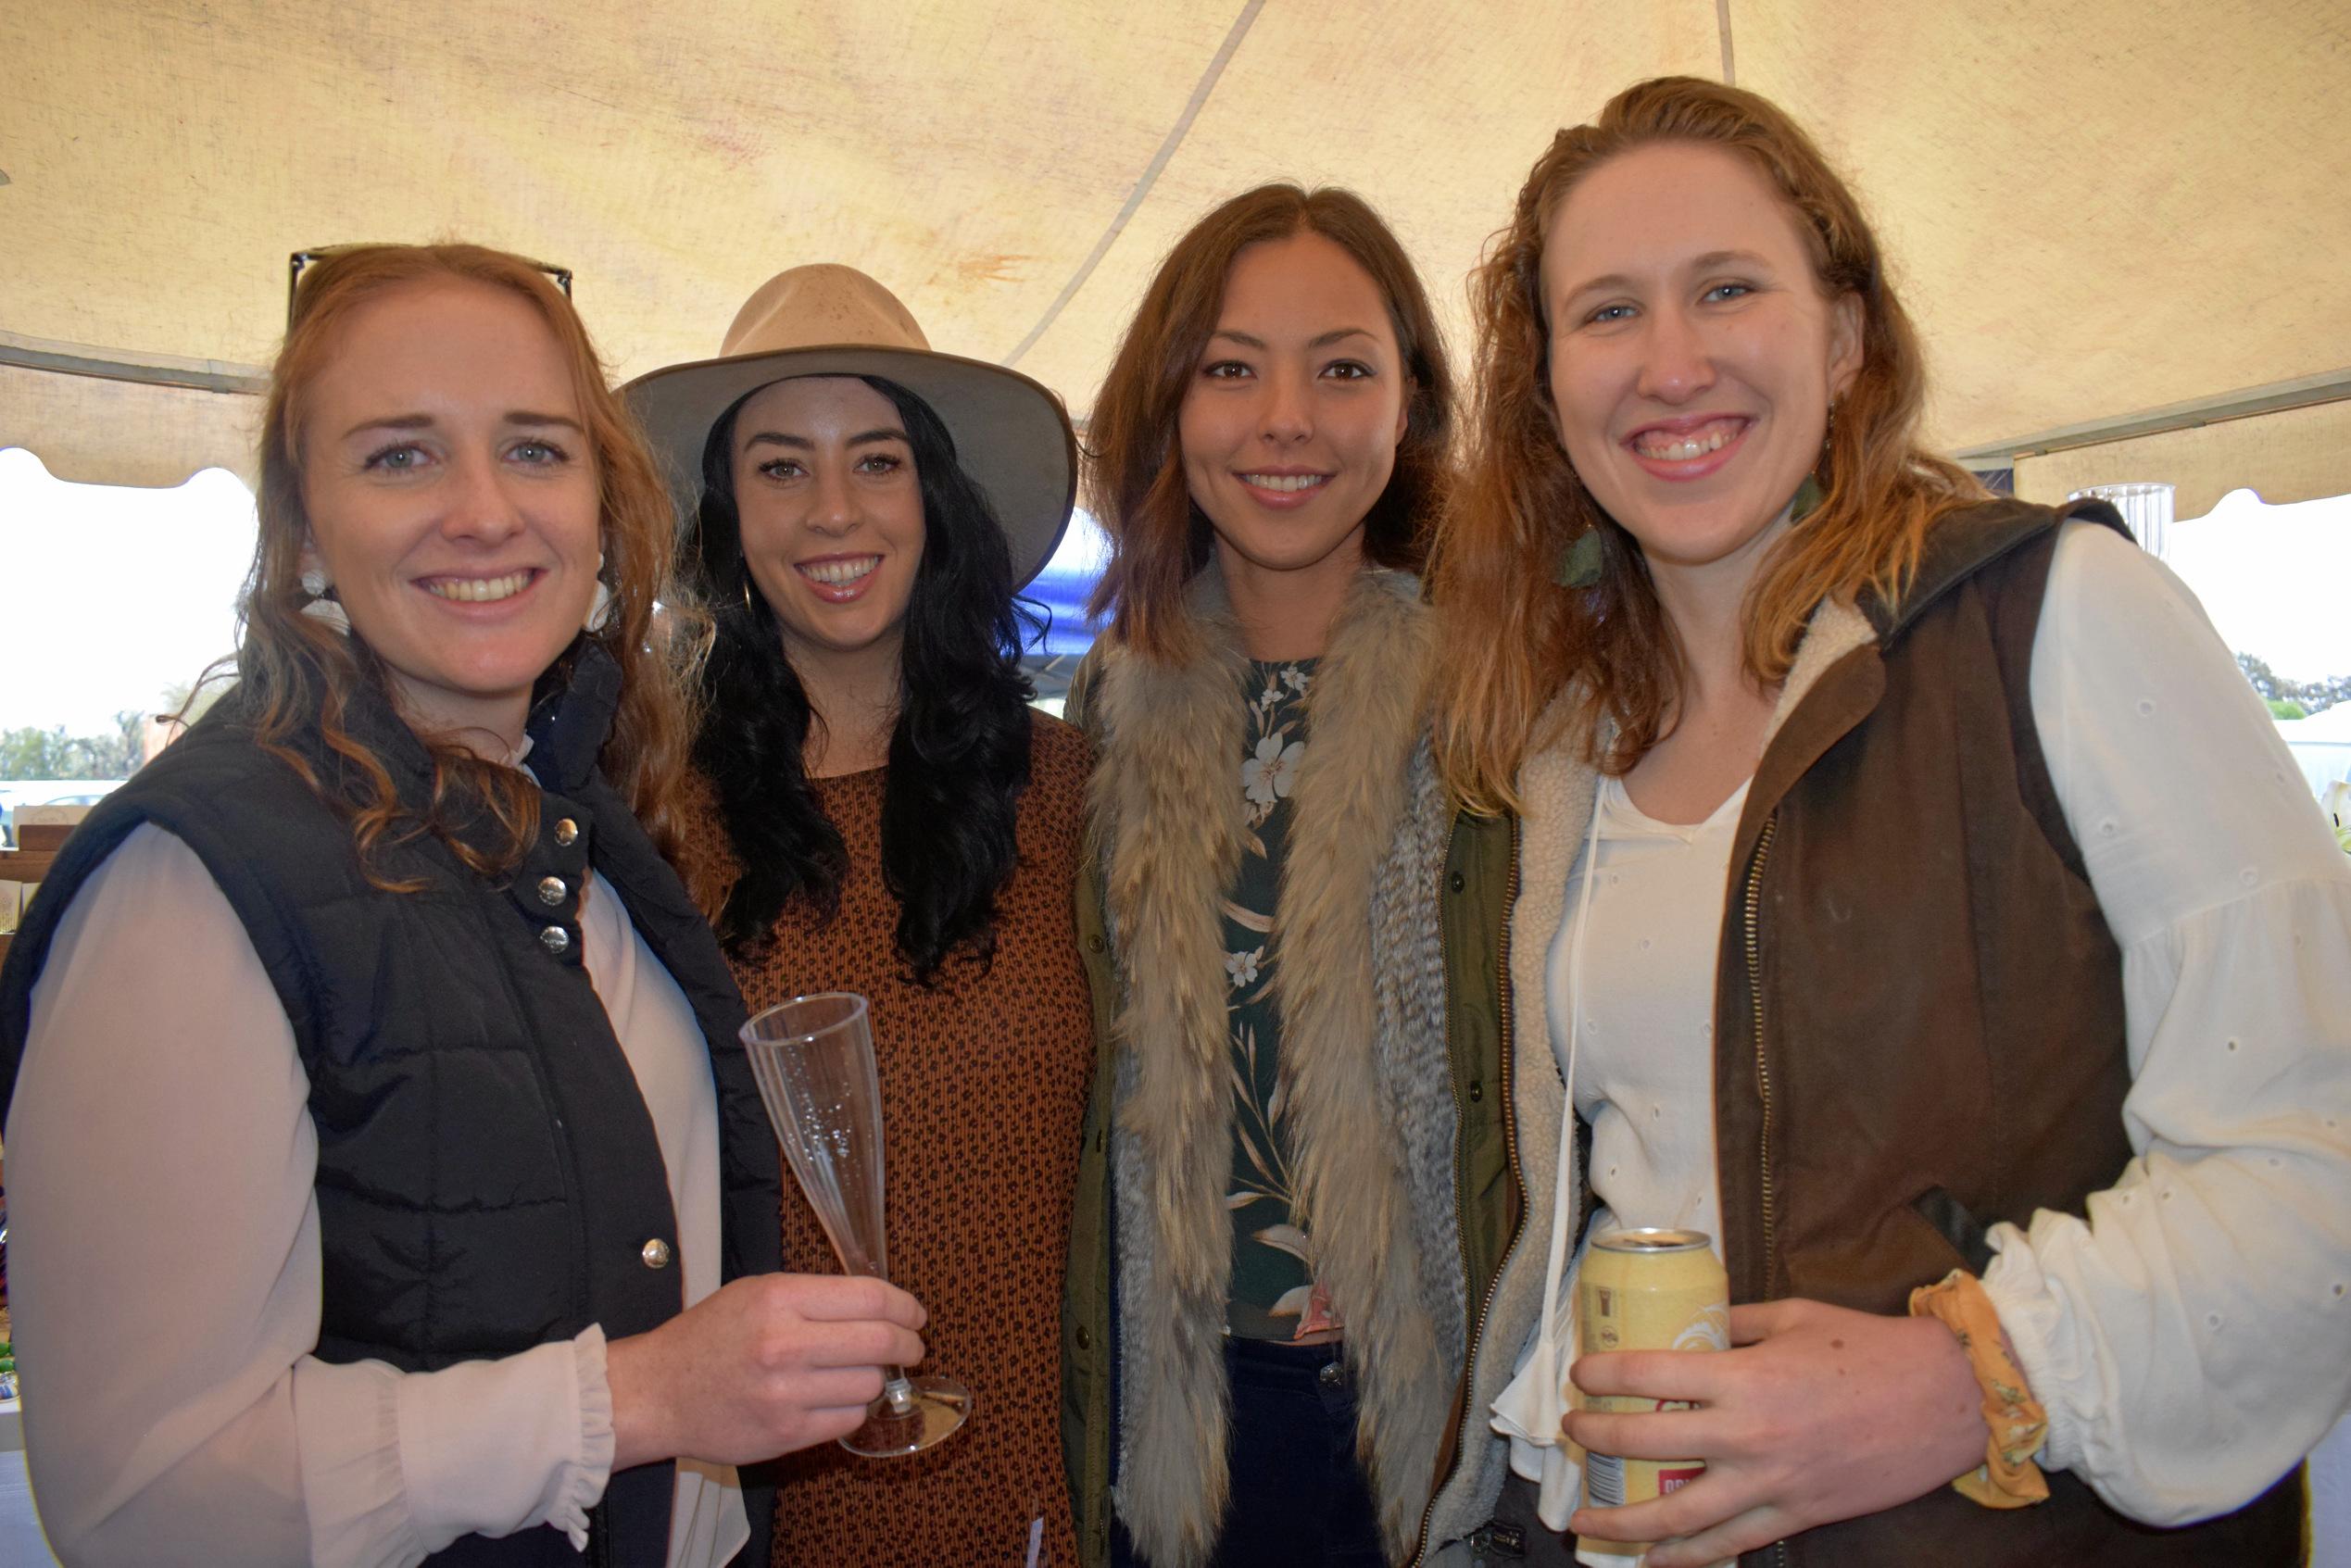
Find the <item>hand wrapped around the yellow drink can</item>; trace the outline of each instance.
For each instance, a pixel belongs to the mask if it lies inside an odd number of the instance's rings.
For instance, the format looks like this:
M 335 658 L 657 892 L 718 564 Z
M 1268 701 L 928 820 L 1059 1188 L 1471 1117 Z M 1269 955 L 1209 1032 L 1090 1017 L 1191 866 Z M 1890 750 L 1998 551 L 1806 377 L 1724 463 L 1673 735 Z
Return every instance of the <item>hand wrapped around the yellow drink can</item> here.
M 1594 1453 L 1700 1458 L 1707 1474 L 1622 1509 L 1578 1509 L 1578 1535 L 1655 1540 L 1648 1568 L 1704 1568 L 1775 1540 L 1876 1514 L 1984 1462 L 1982 1392 L 1937 1319 L 1815 1300 L 1730 1309 L 1730 1349 L 1617 1352 L 1570 1368 L 1585 1394 L 1690 1401 L 1693 1410 L 1570 1410 Z

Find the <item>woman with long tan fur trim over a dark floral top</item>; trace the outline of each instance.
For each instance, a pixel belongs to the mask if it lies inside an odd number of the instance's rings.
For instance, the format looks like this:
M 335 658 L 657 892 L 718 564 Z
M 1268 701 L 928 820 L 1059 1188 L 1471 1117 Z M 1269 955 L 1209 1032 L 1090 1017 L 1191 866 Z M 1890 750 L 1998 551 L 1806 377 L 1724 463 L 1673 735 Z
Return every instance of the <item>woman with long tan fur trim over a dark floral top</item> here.
M 1072 1258 L 1089 1561 L 1387 1563 L 1422 1521 L 1465 1333 L 1448 823 L 1411 766 L 1448 400 L 1385 223 L 1262 186 L 1178 240 L 1093 404 L 1110 632 L 1072 712 L 1100 745 L 1114 1044 Z

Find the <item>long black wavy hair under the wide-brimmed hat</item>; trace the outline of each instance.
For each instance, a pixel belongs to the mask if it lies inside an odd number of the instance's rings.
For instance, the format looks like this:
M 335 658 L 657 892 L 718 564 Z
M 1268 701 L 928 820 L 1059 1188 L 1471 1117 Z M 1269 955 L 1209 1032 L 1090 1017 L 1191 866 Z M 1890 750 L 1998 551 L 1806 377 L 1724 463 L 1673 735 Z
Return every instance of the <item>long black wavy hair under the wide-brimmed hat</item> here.
M 922 562 L 905 607 L 898 724 L 882 795 L 882 884 L 898 900 L 898 954 L 933 985 L 959 954 L 983 971 L 997 950 L 997 891 L 1013 872 L 1013 809 L 1030 778 L 1030 698 L 1020 646 L 1041 630 L 1013 597 L 1011 550 L 947 425 L 896 381 L 860 376 L 905 421 L 922 487 Z M 734 489 L 738 400 L 703 444 L 703 501 L 686 550 L 717 637 L 703 665 L 694 762 L 712 780 L 741 879 L 717 914 L 729 952 L 776 926 L 792 898 L 839 912 L 849 849 L 809 783 L 809 696 L 783 654 L 776 611 L 743 559 Z

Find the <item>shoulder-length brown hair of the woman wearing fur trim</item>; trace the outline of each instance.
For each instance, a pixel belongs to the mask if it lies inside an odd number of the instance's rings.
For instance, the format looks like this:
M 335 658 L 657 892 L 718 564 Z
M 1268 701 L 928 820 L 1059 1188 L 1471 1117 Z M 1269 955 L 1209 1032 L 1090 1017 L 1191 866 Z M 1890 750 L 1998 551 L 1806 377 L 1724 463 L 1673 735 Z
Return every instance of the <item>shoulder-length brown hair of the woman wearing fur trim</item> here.
M 1404 244 L 1354 190 L 1293 183 L 1244 190 L 1194 223 L 1159 263 L 1086 423 L 1086 501 L 1110 536 L 1110 567 L 1089 611 L 1107 611 L 1110 637 L 1154 663 L 1194 654 L 1183 595 L 1208 564 L 1215 536 L 1183 477 L 1176 421 L 1185 390 L 1225 308 L 1234 256 L 1260 240 L 1302 233 L 1331 240 L 1371 275 L 1411 376 L 1396 468 L 1364 515 L 1364 555 L 1418 571 L 1451 487 L 1453 369 Z

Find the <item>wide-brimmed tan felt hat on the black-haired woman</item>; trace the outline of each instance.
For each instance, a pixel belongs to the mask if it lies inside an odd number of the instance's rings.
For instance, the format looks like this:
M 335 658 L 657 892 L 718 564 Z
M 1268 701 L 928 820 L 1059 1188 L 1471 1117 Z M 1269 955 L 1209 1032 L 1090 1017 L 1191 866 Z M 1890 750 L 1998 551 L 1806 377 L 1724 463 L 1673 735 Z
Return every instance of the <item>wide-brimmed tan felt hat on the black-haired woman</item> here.
M 1077 501 L 1077 433 L 1060 397 L 1002 364 L 936 353 L 896 294 L 837 263 L 797 266 L 759 284 L 715 360 L 670 364 L 621 388 L 682 522 L 701 505 L 710 428 L 750 393 L 795 376 L 879 376 L 931 404 L 1004 524 L 1013 585 L 1044 571 Z

